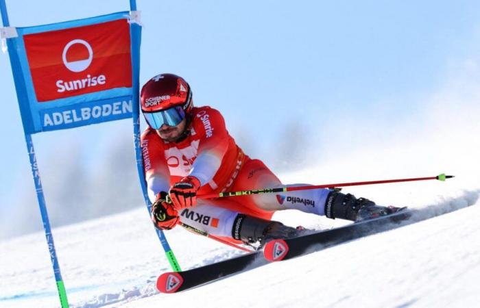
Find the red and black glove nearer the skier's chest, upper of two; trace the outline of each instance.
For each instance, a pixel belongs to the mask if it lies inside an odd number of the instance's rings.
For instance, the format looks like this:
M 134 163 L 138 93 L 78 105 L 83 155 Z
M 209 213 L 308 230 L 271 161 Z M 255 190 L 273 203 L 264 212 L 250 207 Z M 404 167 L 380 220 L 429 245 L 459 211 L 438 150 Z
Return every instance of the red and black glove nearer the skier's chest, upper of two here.
M 197 191 L 200 189 L 200 181 L 196 177 L 184 177 L 180 182 L 170 188 L 170 198 L 175 209 L 193 207 L 197 204 Z

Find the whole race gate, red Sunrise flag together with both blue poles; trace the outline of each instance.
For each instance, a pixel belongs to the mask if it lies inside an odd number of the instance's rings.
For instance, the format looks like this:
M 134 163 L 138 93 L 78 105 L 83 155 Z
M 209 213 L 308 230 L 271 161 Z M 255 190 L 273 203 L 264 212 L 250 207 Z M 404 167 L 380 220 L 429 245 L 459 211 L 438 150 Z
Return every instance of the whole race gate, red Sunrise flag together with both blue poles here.
M 0 13 L 2 49 L 6 41 L 53 274 L 60 304 L 68 308 L 32 134 L 132 118 L 136 167 L 150 213 L 140 146 L 140 12 L 130 0 L 130 12 L 35 27 L 10 27 L 5 0 Z M 171 267 L 180 270 L 163 231 L 156 233 Z

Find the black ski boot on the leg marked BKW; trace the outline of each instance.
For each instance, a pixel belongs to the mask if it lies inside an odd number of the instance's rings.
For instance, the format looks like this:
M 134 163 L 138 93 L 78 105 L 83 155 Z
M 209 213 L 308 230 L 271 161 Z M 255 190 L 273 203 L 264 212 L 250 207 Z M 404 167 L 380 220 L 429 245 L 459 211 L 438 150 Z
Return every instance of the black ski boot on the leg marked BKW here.
M 295 238 L 298 230 L 285 224 L 238 214 L 232 229 L 232 238 L 241 240 L 246 244 L 259 243 L 263 246 L 266 242 L 277 238 Z

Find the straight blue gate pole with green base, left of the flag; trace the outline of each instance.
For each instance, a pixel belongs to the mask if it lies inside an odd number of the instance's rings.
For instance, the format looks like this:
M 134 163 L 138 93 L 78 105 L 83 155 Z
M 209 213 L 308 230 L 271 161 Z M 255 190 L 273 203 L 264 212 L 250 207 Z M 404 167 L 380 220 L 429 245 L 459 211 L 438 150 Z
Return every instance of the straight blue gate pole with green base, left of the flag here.
M 0 0 L 0 10 L 1 10 L 1 19 L 3 23 L 3 27 L 9 27 L 10 22 L 8 21 L 8 13 L 7 13 L 7 7 L 5 5 L 5 0 Z M 12 44 L 10 44 L 10 42 L 8 42 L 8 53 L 10 55 L 10 63 L 12 63 L 12 72 L 15 77 L 16 72 L 14 72 L 13 70 L 14 66 L 13 66 L 12 60 L 14 57 L 16 57 L 16 55 L 14 54 Z M 18 94 L 19 88 L 17 87 L 19 87 L 20 85 L 15 83 L 15 86 Z M 32 141 L 32 136 L 29 135 L 28 133 L 25 133 L 25 142 L 27 144 L 27 151 L 30 159 L 30 166 L 32 167 L 32 175 L 34 177 L 36 196 L 38 199 L 38 207 L 40 207 L 40 214 L 42 216 L 42 221 L 43 221 L 43 229 L 45 229 L 45 238 L 47 238 L 51 265 L 53 266 L 53 274 L 55 275 L 55 280 L 56 280 L 57 289 L 58 289 L 58 296 L 60 296 L 60 305 L 62 305 L 62 308 L 68 308 L 69 301 L 67 300 L 67 291 L 65 290 L 65 285 L 62 280 L 62 274 L 60 273 L 60 266 L 58 265 L 57 253 L 55 251 L 55 244 L 53 244 L 53 235 L 51 234 L 51 229 L 50 229 L 50 222 L 49 222 L 48 213 L 47 213 L 47 204 L 45 203 L 45 196 L 43 195 L 42 182 L 40 181 L 40 172 L 38 172 L 38 164 L 36 162 L 34 142 Z

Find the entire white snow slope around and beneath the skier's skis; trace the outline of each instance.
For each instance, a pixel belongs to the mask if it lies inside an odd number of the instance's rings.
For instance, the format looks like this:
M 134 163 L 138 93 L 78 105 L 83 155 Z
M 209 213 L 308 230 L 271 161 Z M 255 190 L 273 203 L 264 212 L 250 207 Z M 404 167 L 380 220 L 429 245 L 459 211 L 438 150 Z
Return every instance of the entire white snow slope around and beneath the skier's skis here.
M 431 216 L 429 211 L 479 205 L 479 194 L 440 195 L 422 210 Z M 245 270 L 180 294 L 156 290 L 156 277 L 169 265 L 146 215 L 145 209 L 136 209 L 53 231 L 71 307 L 424 307 L 477 305 L 480 299 L 480 248 L 474 244 L 480 239 L 478 206 Z M 304 215 L 284 211 L 276 218 L 316 229 L 348 223 Z M 167 238 L 184 269 L 242 253 L 180 228 Z M 0 242 L 0 256 L 0 307 L 58 307 L 43 233 Z M 241 295 L 238 290 L 249 296 L 232 303 L 232 296 Z

